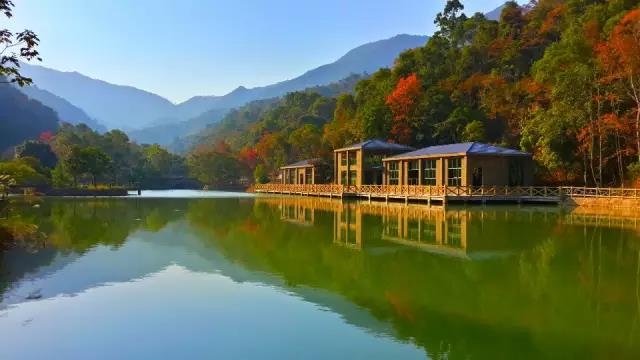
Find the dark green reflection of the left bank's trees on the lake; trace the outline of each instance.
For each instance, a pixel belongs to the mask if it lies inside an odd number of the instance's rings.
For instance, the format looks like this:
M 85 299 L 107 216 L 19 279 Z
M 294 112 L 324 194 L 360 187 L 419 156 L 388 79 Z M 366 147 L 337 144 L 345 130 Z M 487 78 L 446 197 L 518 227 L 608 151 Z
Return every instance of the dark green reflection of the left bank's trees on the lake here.
M 186 203 L 180 199 L 46 199 L 34 207 L 36 203 L 17 202 L 8 218 L 0 220 L 4 225 L 0 236 L 3 229 L 18 229 L 12 232 L 20 234 L 18 245 L 24 246 L 0 252 L 0 294 L 25 274 L 50 265 L 60 251 L 82 254 L 98 245 L 119 247 L 136 230 L 159 231 L 184 216 Z M 23 254 L 25 248 L 36 254 Z

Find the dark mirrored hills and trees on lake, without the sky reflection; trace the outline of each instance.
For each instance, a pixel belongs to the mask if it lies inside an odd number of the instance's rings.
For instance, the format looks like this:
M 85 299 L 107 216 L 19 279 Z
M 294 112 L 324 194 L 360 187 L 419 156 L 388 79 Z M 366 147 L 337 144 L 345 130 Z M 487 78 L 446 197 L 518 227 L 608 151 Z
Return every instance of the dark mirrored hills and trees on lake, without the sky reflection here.
M 632 358 L 640 352 L 636 219 L 556 208 L 443 210 L 294 197 L 50 199 L 15 213 L 38 227 L 47 246 L 2 254 L 5 304 L 18 301 L 15 289 L 27 279 L 44 279 L 97 249 L 109 249 L 112 255 L 101 255 L 107 262 L 143 239 L 150 254 L 140 264 L 119 262 L 95 280 L 85 274 L 77 286 L 60 285 L 43 296 L 178 263 L 285 288 L 433 358 Z M 154 236 L 172 226 L 197 241 Z M 387 330 L 374 325 L 380 323 Z

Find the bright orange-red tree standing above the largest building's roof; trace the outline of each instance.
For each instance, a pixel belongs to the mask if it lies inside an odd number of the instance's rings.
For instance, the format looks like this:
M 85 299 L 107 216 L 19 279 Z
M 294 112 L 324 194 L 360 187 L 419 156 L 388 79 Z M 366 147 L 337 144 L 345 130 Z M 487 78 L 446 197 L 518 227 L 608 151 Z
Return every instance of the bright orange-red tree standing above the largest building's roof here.
M 400 143 L 411 141 L 411 122 L 420 116 L 418 109 L 422 93 L 422 83 L 414 73 L 398 80 L 396 88 L 386 98 L 394 120 L 391 134 Z

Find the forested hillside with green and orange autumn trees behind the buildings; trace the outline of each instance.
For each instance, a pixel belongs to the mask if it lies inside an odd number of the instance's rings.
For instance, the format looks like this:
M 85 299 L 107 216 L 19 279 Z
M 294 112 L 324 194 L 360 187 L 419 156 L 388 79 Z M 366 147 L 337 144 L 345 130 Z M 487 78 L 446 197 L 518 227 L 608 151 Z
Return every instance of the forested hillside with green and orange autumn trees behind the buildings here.
M 493 21 L 467 17 L 450 0 L 425 46 L 361 80 L 354 94 L 253 104 L 201 142 L 255 154 L 252 165 L 271 173 L 367 138 L 416 147 L 485 141 L 532 152 L 545 183 L 620 184 L 640 170 L 638 4 L 509 2 Z

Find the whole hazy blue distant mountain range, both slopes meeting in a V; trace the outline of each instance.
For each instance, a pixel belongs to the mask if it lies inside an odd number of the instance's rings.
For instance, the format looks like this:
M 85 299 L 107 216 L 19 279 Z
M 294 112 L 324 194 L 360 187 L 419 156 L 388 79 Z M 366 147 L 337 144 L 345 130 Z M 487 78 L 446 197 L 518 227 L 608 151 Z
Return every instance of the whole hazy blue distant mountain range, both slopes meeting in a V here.
M 177 105 L 131 86 L 114 85 L 77 72 L 29 64 L 23 64 L 22 71 L 34 80 L 37 88 L 27 88 L 23 92 L 54 108 L 65 121 L 88 122 L 88 125 L 98 128 L 98 124 L 109 129 L 121 128 L 133 132 L 140 140 L 155 140 L 154 136 L 137 134 L 160 133 L 168 129 L 168 125 L 185 122 L 208 111 L 231 109 L 252 100 L 278 97 L 291 91 L 329 84 L 350 74 L 371 73 L 381 67 L 391 66 L 400 52 L 422 46 L 427 39 L 426 36 L 398 35 L 359 46 L 337 61 L 291 80 L 252 89 L 241 86 L 224 96 L 196 96 Z M 55 96 L 51 96 L 53 94 Z M 66 100 L 66 103 L 60 100 Z M 72 111 L 73 108 L 75 110 Z M 201 125 L 186 128 L 197 130 L 198 126 Z

